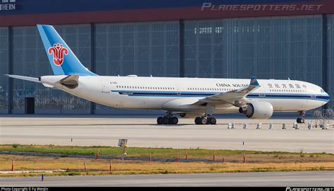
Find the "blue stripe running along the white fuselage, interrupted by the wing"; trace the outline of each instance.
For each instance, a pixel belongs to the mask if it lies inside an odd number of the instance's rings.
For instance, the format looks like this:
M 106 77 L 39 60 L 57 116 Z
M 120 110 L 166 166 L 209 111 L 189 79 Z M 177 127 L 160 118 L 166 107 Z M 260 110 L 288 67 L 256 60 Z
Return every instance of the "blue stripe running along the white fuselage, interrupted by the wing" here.
M 111 91 L 121 95 L 129 96 L 149 96 L 149 97 L 205 97 L 215 95 L 217 92 L 197 92 L 197 91 Z M 178 94 L 180 93 L 180 94 Z M 261 95 L 261 96 L 260 96 Z M 263 96 L 265 95 L 265 96 Z M 249 93 L 246 98 L 279 98 L 279 99 L 304 99 L 304 100 L 321 100 L 327 102 L 329 95 L 322 94 L 297 94 L 297 93 Z

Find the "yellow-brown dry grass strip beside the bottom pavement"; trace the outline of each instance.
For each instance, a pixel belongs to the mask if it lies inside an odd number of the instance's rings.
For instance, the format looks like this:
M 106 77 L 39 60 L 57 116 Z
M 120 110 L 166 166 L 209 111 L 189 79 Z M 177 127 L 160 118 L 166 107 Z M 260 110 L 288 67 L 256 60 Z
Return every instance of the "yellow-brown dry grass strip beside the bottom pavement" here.
M 11 160 L 15 160 L 15 170 L 56 170 L 69 169 L 66 173 L 47 175 L 104 175 L 109 173 L 109 160 L 78 159 L 69 157 L 30 157 L 0 155 L 0 171 L 11 170 Z M 84 172 L 87 162 L 88 172 Z M 334 162 L 285 162 L 285 163 L 183 163 L 183 162 L 132 162 L 113 161 L 112 174 L 149 173 L 226 173 L 251 171 L 323 171 L 334 170 Z M 40 173 L 0 174 L 0 176 L 39 176 Z

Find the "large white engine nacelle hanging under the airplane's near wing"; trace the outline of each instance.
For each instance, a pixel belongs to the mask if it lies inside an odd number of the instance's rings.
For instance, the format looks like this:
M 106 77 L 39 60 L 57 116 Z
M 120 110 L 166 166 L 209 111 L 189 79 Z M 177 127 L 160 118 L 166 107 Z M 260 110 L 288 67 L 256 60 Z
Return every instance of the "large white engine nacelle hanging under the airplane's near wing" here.
M 273 115 L 273 105 L 268 102 L 252 102 L 240 107 L 239 112 L 252 119 L 269 119 Z

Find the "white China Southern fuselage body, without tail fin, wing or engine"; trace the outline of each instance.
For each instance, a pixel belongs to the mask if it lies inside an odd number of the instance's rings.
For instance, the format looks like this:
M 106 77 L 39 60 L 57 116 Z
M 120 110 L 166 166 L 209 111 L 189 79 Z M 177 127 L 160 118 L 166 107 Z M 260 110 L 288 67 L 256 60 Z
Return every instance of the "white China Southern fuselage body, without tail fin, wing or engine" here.
M 62 79 L 66 76 L 54 77 Z M 258 81 L 260 87 L 247 95 L 247 99 L 271 103 L 276 112 L 312 110 L 329 100 L 329 95 L 322 91 L 321 87 L 305 81 L 276 79 L 258 79 Z M 42 77 L 42 82 L 50 84 L 48 76 Z M 80 76 L 77 88 L 69 89 L 65 86 L 58 88 L 110 107 L 203 113 L 205 106 L 192 103 L 209 95 L 248 85 L 249 79 Z M 216 105 L 214 113 L 237 112 L 238 109 L 222 102 Z

